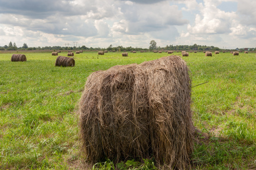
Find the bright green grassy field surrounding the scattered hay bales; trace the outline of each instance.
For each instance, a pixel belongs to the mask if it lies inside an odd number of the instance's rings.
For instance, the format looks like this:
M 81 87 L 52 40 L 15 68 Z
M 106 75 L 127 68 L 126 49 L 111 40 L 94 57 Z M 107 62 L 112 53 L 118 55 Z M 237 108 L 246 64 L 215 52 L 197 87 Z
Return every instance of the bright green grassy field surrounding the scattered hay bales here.
M 0 169 L 92 169 L 83 164 L 78 135 L 77 104 L 87 76 L 168 56 L 84 52 L 75 54 L 75 67 L 55 67 L 51 53 L 24 53 L 27 62 L 11 62 L 12 54 L 0 53 Z M 255 53 L 182 58 L 191 71 L 193 122 L 201 131 L 192 169 L 256 169 Z M 110 161 L 94 169 L 112 167 Z M 130 160 L 123 167 L 154 168 L 151 160 Z

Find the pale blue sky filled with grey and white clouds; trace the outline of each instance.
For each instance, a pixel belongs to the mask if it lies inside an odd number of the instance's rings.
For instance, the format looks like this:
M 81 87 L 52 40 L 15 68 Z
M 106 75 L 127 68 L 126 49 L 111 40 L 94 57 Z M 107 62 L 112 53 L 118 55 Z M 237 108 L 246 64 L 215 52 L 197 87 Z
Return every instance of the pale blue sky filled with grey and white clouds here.
M 0 46 L 256 47 L 254 0 L 1 0 Z

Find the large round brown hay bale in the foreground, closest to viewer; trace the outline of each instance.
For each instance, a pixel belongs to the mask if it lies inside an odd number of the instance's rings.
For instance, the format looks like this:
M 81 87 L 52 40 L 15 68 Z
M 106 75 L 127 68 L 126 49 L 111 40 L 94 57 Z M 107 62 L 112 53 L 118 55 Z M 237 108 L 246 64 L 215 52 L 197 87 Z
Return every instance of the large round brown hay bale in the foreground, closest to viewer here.
M 154 157 L 185 169 L 193 150 L 191 80 L 179 56 L 113 66 L 88 76 L 79 104 L 90 163 Z

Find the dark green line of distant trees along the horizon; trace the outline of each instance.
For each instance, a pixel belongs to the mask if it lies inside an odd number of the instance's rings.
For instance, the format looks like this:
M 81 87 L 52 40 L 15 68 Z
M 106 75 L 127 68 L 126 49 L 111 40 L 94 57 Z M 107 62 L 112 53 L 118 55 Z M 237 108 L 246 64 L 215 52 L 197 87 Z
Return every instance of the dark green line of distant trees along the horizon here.
M 252 50 L 251 48 L 250 50 Z M 85 45 L 82 46 L 43 46 L 43 47 L 28 47 L 26 43 L 23 44 L 21 47 L 17 47 L 15 42 L 10 42 L 9 45 L 0 46 L 0 50 L 114 50 L 116 52 L 123 52 L 131 51 L 131 50 L 221 50 L 216 46 L 207 46 L 207 45 L 166 45 L 165 47 L 160 47 L 156 45 L 155 40 L 150 41 L 150 46 L 148 48 L 141 48 L 141 47 L 123 47 L 122 45 L 113 46 L 112 44 L 108 46 L 108 48 L 92 48 L 86 47 Z M 241 49 L 243 50 L 243 49 Z M 256 50 L 256 48 L 254 48 Z

